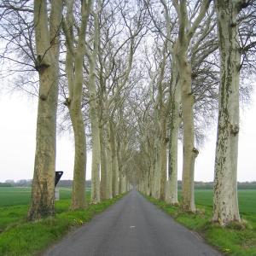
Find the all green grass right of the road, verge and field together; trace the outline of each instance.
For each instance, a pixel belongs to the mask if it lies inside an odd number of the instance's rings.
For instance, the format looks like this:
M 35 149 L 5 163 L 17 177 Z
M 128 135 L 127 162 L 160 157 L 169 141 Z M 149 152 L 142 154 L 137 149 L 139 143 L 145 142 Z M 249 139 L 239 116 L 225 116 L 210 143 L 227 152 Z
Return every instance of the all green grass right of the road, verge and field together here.
M 256 189 L 238 191 L 243 227 L 230 224 L 223 228 L 212 224 L 212 190 L 195 190 L 196 214 L 183 212 L 181 207 L 170 206 L 149 196 L 146 198 L 170 214 L 178 223 L 198 232 L 222 253 L 236 256 L 256 255 Z

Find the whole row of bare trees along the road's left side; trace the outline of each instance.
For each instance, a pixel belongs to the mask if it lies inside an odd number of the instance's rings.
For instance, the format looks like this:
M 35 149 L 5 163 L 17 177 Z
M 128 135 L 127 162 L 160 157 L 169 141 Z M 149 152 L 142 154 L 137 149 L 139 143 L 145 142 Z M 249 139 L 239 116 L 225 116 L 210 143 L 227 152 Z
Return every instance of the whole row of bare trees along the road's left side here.
M 132 127 L 125 104 L 138 79 L 137 74 L 130 79 L 130 74 L 145 33 L 145 11 L 126 1 L 63 3 L 24 0 L 0 5 L 6 45 L 2 57 L 12 63 L 6 73 L 22 72 L 22 77 L 16 75 L 21 89 L 38 96 L 29 219 L 54 214 L 57 116 L 73 128 L 73 210 L 86 203 L 86 147 L 92 150 L 91 203 L 124 193 L 128 177 L 131 180 Z

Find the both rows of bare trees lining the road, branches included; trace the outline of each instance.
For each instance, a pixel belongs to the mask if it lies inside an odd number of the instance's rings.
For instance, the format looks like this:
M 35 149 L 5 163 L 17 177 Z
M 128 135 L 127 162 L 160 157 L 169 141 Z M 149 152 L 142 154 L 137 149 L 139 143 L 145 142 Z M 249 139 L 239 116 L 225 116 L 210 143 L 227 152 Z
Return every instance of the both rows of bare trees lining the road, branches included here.
M 253 1 L 3 0 L 0 10 L 5 73 L 38 96 L 28 218 L 54 214 L 57 119 L 73 129 L 73 210 L 85 207 L 86 148 L 92 203 L 132 183 L 177 204 L 182 138 L 182 206 L 195 212 L 195 143 L 218 110 L 213 221 L 240 221 L 238 96 L 253 72 Z

